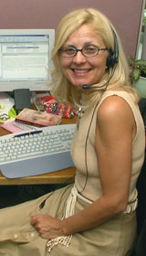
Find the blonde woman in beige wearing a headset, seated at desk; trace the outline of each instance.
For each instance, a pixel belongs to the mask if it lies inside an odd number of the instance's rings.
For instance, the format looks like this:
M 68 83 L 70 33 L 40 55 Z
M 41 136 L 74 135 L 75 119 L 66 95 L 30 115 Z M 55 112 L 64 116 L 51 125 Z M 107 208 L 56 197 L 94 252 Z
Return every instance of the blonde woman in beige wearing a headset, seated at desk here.
M 107 17 L 79 9 L 57 27 L 52 59 L 52 94 L 79 107 L 75 186 L 1 210 L 0 255 L 126 256 L 145 136 L 120 38 Z

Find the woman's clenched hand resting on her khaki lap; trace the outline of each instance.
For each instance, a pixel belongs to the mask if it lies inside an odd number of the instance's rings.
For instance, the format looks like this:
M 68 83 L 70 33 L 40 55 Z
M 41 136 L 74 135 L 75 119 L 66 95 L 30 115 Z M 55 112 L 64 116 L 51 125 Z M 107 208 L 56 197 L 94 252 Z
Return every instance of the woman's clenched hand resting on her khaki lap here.
M 31 224 L 39 232 L 42 239 L 55 239 L 63 236 L 62 221 L 50 215 L 36 215 L 31 217 Z

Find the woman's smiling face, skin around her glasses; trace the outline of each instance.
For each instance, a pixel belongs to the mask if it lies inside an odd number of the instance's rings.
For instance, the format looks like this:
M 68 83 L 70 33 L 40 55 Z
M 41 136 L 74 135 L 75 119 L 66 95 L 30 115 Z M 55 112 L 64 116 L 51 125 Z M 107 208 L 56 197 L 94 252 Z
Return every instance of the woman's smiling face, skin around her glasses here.
M 97 35 L 89 25 L 82 25 L 68 37 L 63 47 L 98 47 L 106 48 L 102 37 Z M 105 70 L 108 58 L 108 50 L 99 50 L 95 57 L 85 57 L 80 51 L 72 58 L 59 56 L 61 69 L 74 86 L 81 88 L 84 84 L 89 86 L 98 83 L 101 80 Z

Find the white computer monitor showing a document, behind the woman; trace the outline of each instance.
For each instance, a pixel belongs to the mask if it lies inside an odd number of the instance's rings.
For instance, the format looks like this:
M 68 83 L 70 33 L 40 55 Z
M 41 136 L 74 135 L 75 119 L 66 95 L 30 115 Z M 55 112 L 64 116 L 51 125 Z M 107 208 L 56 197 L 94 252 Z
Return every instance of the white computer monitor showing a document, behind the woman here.
M 55 29 L 0 29 L 0 91 L 47 91 Z

